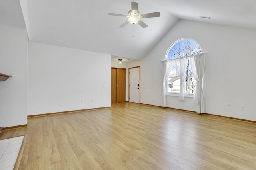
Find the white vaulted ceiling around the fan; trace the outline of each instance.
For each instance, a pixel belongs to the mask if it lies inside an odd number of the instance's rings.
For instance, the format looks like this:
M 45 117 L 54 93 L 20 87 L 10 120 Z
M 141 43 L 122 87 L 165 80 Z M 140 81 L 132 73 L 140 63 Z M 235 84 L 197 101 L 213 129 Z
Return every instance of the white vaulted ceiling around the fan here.
M 179 20 L 193 20 L 256 29 L 256 0 L 135 0 L 148 27 L 128 24 L 131 0 L 20 0 L 27 5 L 30 41 L 142 59 Z M 25 27 L 19 0 L 0 1 L 0 23 Z M 24 3 L 26 2 L 26 3 Z M 24 9 L 24 8 L 23 8 Z M 25 11 L 24 11 L 25 12 Z M 209 16 L 211 19 L 199 18 Z M 25 20 L 26 20 L 25 19 Z

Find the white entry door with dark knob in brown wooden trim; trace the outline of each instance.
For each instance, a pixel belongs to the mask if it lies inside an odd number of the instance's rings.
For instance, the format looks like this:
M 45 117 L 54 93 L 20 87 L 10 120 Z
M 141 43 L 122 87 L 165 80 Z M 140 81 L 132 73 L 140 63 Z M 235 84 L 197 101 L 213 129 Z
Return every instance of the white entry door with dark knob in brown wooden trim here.
M 140 67 L 129 68 L 129 102 L 140 103 Z

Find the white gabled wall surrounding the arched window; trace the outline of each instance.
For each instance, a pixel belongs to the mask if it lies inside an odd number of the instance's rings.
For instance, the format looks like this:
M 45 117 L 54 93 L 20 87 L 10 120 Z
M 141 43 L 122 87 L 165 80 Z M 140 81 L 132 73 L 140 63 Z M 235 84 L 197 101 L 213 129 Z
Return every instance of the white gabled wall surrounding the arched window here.
M 255 29 L 178 21 L 141 61 L 141 103 L 161 106 L 160 61 L 165 59 L 168 47 L 181 38 L 194 39 L 208 53 L 203 84 L 205 112 L 256 121 Z M 167 107 L 196 110 L 192 98 L 179 101 L 177 96 L 167 96 L 166 101 Z M 241 105 L 245 105 L 244 110 Z

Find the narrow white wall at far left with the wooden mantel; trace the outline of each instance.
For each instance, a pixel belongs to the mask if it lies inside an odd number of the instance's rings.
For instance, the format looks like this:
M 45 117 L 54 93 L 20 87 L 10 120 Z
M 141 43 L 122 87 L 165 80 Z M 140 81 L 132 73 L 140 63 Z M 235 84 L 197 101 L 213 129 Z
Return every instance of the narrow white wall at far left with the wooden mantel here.
M 27 124 L 27 31 L 0 25 L 0 127 Z

